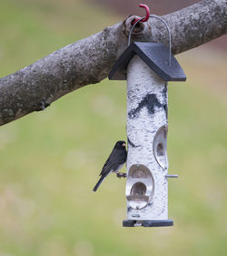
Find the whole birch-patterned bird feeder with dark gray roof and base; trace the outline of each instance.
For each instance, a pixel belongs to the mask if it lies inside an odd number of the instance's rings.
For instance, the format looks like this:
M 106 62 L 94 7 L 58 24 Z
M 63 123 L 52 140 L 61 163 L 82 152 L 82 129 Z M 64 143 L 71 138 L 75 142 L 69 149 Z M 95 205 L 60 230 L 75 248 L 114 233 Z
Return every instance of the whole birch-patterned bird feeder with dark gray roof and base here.
M 168 219 L 168 87 L 185 81 L 163 44 L 133 42 L 110 79 L 127 80 L 127 220 L 124 227 L 173 226 Z M 170 65 L 171 60 L 171 65 Z

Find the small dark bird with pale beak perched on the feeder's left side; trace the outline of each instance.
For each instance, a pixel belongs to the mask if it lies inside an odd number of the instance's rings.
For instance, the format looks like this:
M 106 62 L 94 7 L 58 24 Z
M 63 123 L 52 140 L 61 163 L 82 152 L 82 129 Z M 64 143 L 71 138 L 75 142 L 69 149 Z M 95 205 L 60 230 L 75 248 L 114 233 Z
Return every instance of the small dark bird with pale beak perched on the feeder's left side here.
M 116 172 L 117 174 L 120 174 L 118 170 L 123 168 L 123 164 L 125 163 L 126 159 L 127 159 L 127 151 L 125 148 L 125 141 L 119 140 L 116 142 L 109 158 L 104 163 L 104 167 L 99 175 L 101 176 L 101 178 L 99 179 L 97 184 L 94 186 L 94 189 L 93 189 L 94 192 L 99 188 L 99 186 L 101 185 L 101 183 L 104 181 L 104 179 L 108 174 L 110 174 L 111 172 Z M 121 177 L 121 176 L 119 175 L 118 177 Z

